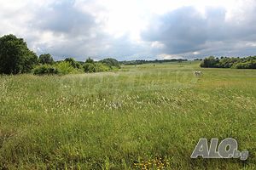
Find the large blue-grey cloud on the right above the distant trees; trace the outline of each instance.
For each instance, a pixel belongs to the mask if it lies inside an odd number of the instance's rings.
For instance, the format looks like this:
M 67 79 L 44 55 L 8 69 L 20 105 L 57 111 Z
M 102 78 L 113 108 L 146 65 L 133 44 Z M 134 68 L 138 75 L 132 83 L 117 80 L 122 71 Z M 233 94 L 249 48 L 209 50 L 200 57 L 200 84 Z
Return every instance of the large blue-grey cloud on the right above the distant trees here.
M 204 12 L 193 6 L 156 15 L 142 32 L 148 42 L 164 44 L 163 54 L 198 57 L 206 55 L 253 55 L 256 29 L 254 3 L 241 8 L 240 14 L 227 17 L 222 7 L 207 7 Z

